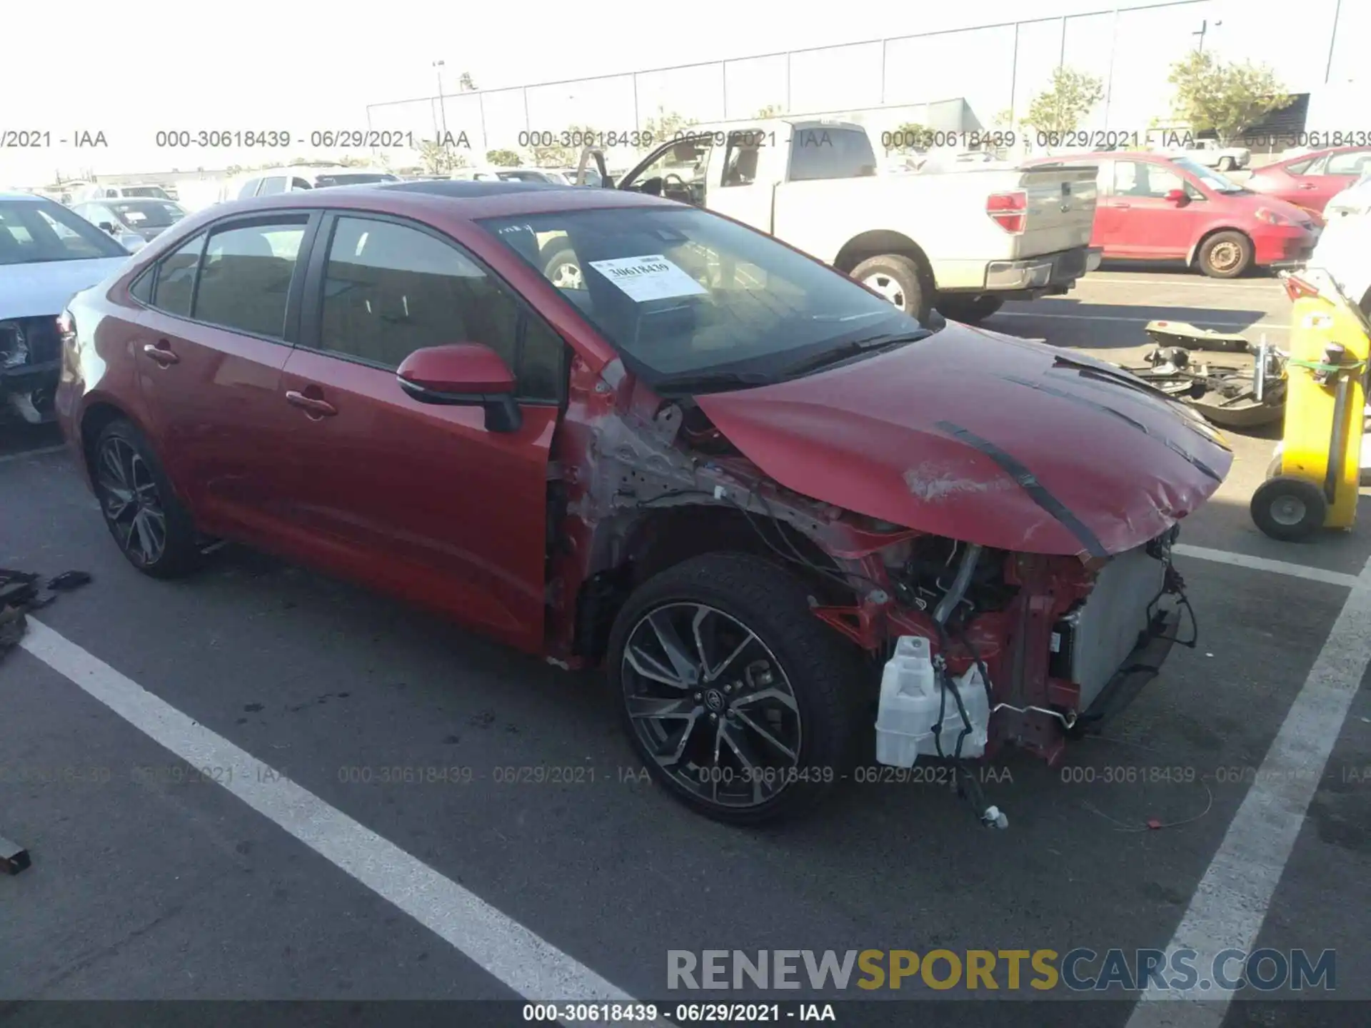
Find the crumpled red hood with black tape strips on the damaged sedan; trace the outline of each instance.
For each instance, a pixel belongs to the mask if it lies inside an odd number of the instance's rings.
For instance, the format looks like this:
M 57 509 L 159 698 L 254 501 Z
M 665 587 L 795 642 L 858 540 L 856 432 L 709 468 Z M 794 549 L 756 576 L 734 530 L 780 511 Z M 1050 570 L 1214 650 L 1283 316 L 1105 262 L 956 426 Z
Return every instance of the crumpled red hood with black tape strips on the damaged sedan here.
M 1113 365 L 958 323 L 696 403 L 795 492 L 1024 552 L 1131 550 L 1198 509 L 1233 465 L 1196 413 Z

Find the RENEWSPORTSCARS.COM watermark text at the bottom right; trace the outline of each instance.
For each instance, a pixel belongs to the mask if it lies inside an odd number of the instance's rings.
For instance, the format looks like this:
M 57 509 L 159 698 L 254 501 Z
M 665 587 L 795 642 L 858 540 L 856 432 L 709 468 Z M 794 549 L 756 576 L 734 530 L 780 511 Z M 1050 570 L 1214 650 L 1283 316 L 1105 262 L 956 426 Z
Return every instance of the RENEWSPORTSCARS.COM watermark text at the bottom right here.
M 1213 990 L 1337 988 L 1337 953 L 1223 950 L 668 950 L 669 990 Z

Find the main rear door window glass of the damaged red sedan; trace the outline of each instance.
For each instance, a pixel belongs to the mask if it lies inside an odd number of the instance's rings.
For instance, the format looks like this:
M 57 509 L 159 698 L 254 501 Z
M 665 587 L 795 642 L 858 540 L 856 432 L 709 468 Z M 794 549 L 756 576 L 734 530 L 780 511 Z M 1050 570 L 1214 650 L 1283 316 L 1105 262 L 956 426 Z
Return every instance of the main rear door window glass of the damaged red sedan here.
M 195 319 L 284 339 L 285 303 L 304 226 L 306 218 L 299 217 L 211 233 L 195 293 Z

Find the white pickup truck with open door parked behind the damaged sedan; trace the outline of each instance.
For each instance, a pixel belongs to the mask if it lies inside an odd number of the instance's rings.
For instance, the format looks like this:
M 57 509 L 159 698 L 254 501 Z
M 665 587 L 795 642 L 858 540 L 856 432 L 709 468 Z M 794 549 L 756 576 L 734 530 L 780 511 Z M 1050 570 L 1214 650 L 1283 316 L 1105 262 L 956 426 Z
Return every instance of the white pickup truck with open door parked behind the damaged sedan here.
M 1090 169 L 969 163 L 936 175 L 880 174 L 864 126 L 786 119 L 691 126 L 618 182 L 598 151 L 583 154 L 581 169 L 591 160 L 606 185 L 768 232 L 917 318 L 936 307 L 979 321 L 1005 300 L 1065 293 L 1100 265 Z M 550 277 L 580 273 L 563 240 L 550 240 L 543 255 Z

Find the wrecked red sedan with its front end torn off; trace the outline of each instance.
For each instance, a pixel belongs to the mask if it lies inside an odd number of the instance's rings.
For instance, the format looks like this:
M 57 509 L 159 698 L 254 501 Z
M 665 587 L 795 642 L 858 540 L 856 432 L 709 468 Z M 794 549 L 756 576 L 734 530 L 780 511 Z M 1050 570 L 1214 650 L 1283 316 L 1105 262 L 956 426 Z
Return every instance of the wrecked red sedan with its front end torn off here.
M 561 236 L 576 288 L 542 271 Z M 1169 650 L 1176 522 L 1231 462 L 1112 365 L 609 189 L 211 207 L 62 336 L 63 430 L 141 572 L 239 540 L 602 665 L 658 780 L 732 821 L 847 773 L 903 636 L 924 743 L 1056 759 Z

